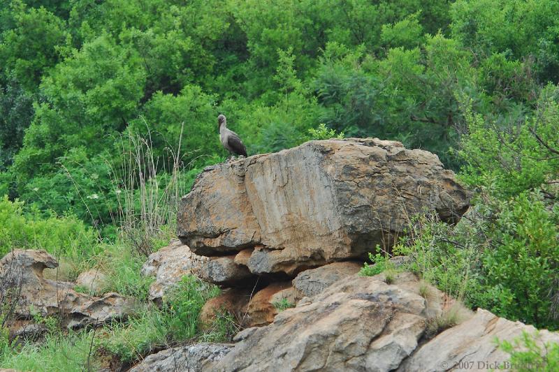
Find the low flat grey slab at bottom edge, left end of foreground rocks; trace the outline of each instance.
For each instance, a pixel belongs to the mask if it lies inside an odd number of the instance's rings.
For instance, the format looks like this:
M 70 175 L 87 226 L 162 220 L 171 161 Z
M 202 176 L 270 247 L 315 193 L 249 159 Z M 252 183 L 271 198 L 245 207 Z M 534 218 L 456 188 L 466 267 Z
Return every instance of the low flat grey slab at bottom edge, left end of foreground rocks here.
M 225 343 L 195 343 L 167 349 L 145 358 L 130 372 L 198 372 L 222 359 L 232 347 Z

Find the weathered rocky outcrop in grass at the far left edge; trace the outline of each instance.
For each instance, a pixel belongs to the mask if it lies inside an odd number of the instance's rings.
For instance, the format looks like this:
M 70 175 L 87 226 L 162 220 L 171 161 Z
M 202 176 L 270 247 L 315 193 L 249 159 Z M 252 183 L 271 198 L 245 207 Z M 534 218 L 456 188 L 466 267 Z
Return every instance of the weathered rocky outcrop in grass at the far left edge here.
M 45 251 L 15 250 L 0 260 L 0 295 L 15 304 L 10 331 L 29 336 L 33 318 L 55 315 L 70 328 L 100 325 L 125 318 L 133 302 L 106 293 L 94 297 L 76 292 L 74 283 L 43 278 L 43 269 L 57 267 L 57 260 Z

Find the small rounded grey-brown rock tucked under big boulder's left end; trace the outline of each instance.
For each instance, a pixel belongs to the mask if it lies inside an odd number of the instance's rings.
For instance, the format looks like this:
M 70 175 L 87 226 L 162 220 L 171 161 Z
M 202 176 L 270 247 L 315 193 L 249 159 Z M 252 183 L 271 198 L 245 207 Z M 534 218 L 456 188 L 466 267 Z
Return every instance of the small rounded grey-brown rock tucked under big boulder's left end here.
M 217 285 L 248 282 L 254 277 L 245 265 L 235 263 L 234 255 L 211 258 L 201 266 L 198 274 L 203 281 Z M 250 282 L 254 284 L 254 280 Z

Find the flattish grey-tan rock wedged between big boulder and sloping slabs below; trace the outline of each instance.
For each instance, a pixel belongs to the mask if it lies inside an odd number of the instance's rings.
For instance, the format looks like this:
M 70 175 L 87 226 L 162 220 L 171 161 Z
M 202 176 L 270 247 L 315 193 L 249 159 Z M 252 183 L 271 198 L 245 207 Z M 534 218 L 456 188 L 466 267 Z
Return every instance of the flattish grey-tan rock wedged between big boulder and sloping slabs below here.
M 293 288 L 298 298 L 318 295 L 342 278 L 357 274 L 363 264 L 357 262 L 334 262 L 300 272 L 293 279 Z

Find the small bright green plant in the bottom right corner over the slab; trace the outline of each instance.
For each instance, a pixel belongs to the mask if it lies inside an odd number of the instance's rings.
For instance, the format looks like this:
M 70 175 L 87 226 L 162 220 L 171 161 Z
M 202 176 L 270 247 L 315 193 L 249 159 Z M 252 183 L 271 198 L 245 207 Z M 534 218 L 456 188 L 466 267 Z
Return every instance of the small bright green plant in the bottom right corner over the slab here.
M 502 367 L 516 372 L 559 371 L 559 344 L 538 342 L 539 334 L 523 332 L 520 338 L 509 342 L 499 341 L 499 347 L 511 357 Z

